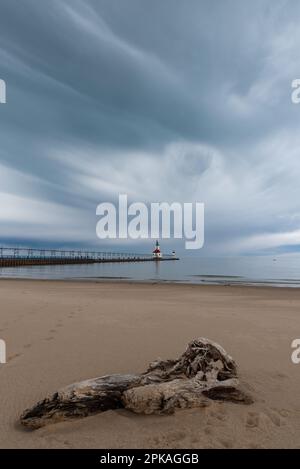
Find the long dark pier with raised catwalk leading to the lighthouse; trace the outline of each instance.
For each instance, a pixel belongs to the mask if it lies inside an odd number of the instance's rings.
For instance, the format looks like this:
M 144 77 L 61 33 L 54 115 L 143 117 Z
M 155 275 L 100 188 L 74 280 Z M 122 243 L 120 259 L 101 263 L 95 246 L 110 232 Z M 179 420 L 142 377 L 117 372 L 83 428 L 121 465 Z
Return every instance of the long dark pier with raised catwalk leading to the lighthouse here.
M 171 254 L 163 255 L 158 259 L 152 254 L 128 252 L 0 247 L 0 267 L 173 260 L 179 259 Z

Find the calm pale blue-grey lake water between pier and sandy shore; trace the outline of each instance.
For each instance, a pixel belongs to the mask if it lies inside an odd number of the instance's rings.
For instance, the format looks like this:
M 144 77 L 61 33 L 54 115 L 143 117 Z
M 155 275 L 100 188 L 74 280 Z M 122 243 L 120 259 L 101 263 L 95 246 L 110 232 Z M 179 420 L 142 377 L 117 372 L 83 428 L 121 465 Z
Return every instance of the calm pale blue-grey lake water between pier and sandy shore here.
M 197 284 L 300 287 L 300 255 L 191 258 L 121 264 L 32 266 L 0 269 L 0 277 L 138 280 Z

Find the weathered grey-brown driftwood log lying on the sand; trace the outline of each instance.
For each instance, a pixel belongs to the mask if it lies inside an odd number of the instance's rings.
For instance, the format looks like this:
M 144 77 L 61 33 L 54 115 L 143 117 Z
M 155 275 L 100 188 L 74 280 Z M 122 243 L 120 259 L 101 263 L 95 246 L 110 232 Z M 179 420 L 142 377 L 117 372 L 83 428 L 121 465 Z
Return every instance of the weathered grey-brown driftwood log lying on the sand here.
M 237 366 L 220 345 L 195 339 L 177 360 L 157 360 L 140 375 L 102 376 L 67 386 L 26 410 L 21 423 L 40 428 L 110 409 L 163 414 L 201 407 L 208 399 L 250 404 L 239 387 Z

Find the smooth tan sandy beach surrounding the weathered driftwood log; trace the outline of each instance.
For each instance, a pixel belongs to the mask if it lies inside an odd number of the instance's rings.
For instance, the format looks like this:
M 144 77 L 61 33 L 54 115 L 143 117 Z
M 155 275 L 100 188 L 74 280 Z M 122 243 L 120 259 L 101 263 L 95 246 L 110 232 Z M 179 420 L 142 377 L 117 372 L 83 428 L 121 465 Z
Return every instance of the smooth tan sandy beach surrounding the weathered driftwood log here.
M 1 448 L 300 447 L 300 290 L 72 281 L 0 281 Z M 168 416 L 125 410 L 34 432 L 20 413 L 58 388 L 141 372 L 204 336 L 237 361 L 250 406 L 211 401 Z

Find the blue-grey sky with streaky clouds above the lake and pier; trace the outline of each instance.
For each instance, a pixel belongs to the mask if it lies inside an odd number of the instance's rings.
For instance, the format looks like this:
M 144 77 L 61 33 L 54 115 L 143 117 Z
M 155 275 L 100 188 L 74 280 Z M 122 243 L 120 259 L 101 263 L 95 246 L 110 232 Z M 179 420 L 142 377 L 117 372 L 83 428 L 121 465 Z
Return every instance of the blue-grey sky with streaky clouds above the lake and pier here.
M 0 244 L 144 252 L 96 236 L 126 193 L 203 202 L 193 255 L 299 251 L 299 21 L 297 0 L 0 0 Z

